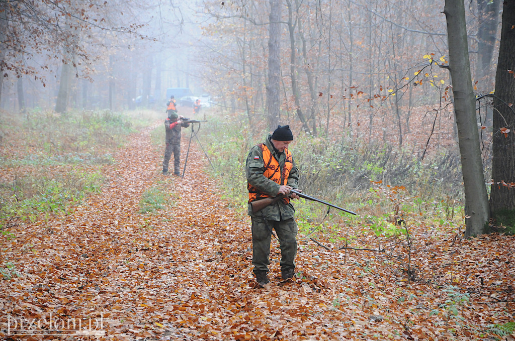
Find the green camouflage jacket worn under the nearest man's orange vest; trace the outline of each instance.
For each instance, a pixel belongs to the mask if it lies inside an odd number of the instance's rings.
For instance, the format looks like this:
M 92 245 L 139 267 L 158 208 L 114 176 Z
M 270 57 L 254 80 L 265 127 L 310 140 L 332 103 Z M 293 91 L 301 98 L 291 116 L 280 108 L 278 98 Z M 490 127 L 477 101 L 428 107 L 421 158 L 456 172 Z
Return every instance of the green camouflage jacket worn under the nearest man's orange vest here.
M 272 135 L 268 135 L 268 137 L 265 139 L 265 145 L 271 151 L 272 156 L 278 160 L 279 166 L 282 168 L 284 166 L 286 155 L 284 153 L 279 153 L 279 151 L 273 147 L 272 142 L 270 141 L 271 137 Z M 259 156 L 259 158 L 254 158 L 254 156 Z M 247 181 L 250 185 L 258 188 L 266 194 L 272 197 L 276 196 L 277 192 L 279 191 L 279 187 L 281 186 L 278 183 L 265 177 L 263 175 L 264 172 L 265 165 L 263 163 L 263 152 L 259 146 L 254 146 L 250 150 L 249 155 L 247 156 L 247 162 L 245 164 Z M 293 167 L 291 167 L 287 185 L 292 188 L 299 187 L 299 170 L 297 169 L 297 166 L 295 166 L 295 160 L 293 160 Z M 291 201 L 289 204 L 285 204 L 282 200 L 280 200 L 256 213 L 252 213 L 252 207 L 249 204 L 247 213 L 251 217 L 261 218 L 263 214 L 267 220 L 281 221 L 293 218 L 295 214 L 295 208 L 293 205 L 291 205 Z

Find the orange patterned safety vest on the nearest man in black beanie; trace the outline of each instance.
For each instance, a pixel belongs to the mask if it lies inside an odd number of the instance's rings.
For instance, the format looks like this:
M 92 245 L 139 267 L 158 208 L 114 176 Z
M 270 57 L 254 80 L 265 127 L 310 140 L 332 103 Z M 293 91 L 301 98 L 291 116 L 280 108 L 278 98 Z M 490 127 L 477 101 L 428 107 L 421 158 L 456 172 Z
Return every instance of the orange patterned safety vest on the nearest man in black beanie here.
M 260 143 L 258 146 L 263 152 L 263 163 L 265 165 L 265 172 L 263 175 L 278 183 L 279 185 L 286 185 L 288 183 L 289 173 L 293 167 L 293 157 L 291 156 L 290 151 L 288 149 L 284 150 L 284 153 L 286 154 L 286 160 L 284 161 L 284 167 L 281 169 L 279 167 L 279 161 L 272 156 L 272 153 L 268 147 L 264 143 Z M 249 203 L 270 196 L 258 190 L 249 183 L 247 183 L 247 189 L 249 190 Z M 289 198 L 286 197 L 283 199 L 283 201 L 285 204 L 288 204 Z

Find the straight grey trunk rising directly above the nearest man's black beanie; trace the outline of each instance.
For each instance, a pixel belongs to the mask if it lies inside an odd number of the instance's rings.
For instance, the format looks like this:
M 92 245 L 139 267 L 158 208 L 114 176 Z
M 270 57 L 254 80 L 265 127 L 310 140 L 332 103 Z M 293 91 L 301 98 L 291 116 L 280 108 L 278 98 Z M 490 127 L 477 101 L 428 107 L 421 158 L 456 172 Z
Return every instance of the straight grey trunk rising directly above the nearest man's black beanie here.
M 270 0 L 270 24 L 268 38 L 268 84 L 266 86 L 266 107 L 271 130 L 280 122 L 279 91 L 281 85 L 281 1 Z

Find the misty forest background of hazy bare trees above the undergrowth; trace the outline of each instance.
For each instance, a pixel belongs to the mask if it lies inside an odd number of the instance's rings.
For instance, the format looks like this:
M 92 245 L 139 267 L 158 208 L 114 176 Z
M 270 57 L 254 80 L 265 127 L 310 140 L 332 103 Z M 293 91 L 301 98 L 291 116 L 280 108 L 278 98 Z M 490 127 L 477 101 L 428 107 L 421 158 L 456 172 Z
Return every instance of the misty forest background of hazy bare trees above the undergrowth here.
M 261 121 L 273 46 L 278 120 L 300 121 L 308 133 L 379 124 L 402 145 L 414 112 L 439 111 L 439 122 L 452 116 L 443 103 L 450 77 L 439 67 L 448 58 L 443 2 L 42 1 L 30 11 L 27 4 L 6 13 L 4 110 L 55 109 L 62 83 L 66 110 L 162 108 L 167 88 L 184 87 L 211 96 L 220 111 Z M 499 18 L 482 6 L 466 8 L 467 27 L 473 80 L 488 93 L 497 40 L 478 37 L 486 20 L 496 27 Z

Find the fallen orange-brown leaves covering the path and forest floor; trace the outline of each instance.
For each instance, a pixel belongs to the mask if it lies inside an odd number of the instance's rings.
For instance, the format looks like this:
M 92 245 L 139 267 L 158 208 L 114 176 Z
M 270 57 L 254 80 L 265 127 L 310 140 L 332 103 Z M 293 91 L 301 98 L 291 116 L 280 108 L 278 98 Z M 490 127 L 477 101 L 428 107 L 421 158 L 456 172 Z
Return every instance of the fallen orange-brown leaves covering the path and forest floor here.
M 409 226 L 408 244 L 375 238 L 366 225 L 341 226 L 364 231 L 352 247 L 372 249 L 354 250 L 300 234 L 298 279 L 281 282 L 274 241 L 271 283 L 256 288 L 245 212 L 220 199 L 195 142 L 184 178 L 161 175 L 149 131 L 131 136 L 105 167 L 99 194 L 2 237 L 0 266 L 9 262 L 14 274 L 0 280 L 4 339 L 61 338 L 7 335 L 8 318 L 50 314 L 102 318 L 105 333 L 94 325 L 96 335 L 67 339 L 513 339 L 501 327 L 515 321 L 513 237 L 465 240 Z M 140 213 L 142 194 L 155 186 L 173 205 Z

